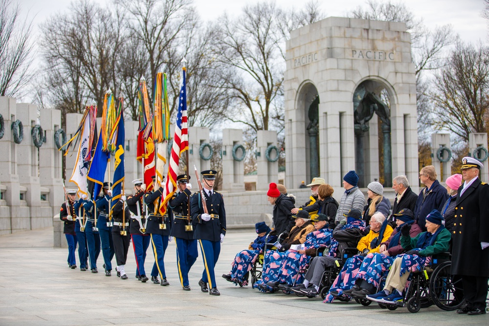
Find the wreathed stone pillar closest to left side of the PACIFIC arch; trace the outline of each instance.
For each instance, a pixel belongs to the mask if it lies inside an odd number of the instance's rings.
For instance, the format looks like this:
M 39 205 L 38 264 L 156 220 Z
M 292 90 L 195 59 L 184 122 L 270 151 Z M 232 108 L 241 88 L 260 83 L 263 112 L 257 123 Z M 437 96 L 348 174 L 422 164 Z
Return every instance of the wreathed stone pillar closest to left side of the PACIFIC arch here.
M 278 182 L 278 161 L 269 162 L 265 154 L 268 146 L 277 146 L 277 132 L 271 130 L 258 130 L 256 145 L 256 190 L 267 190 L 270 182 Z M 270 152 L 271 159 L 275 158 L 276 155 L 278 155 L 278 153 L 275 153 L 275 151 Z M 285 186 L 287 187 L 287 185 Z

